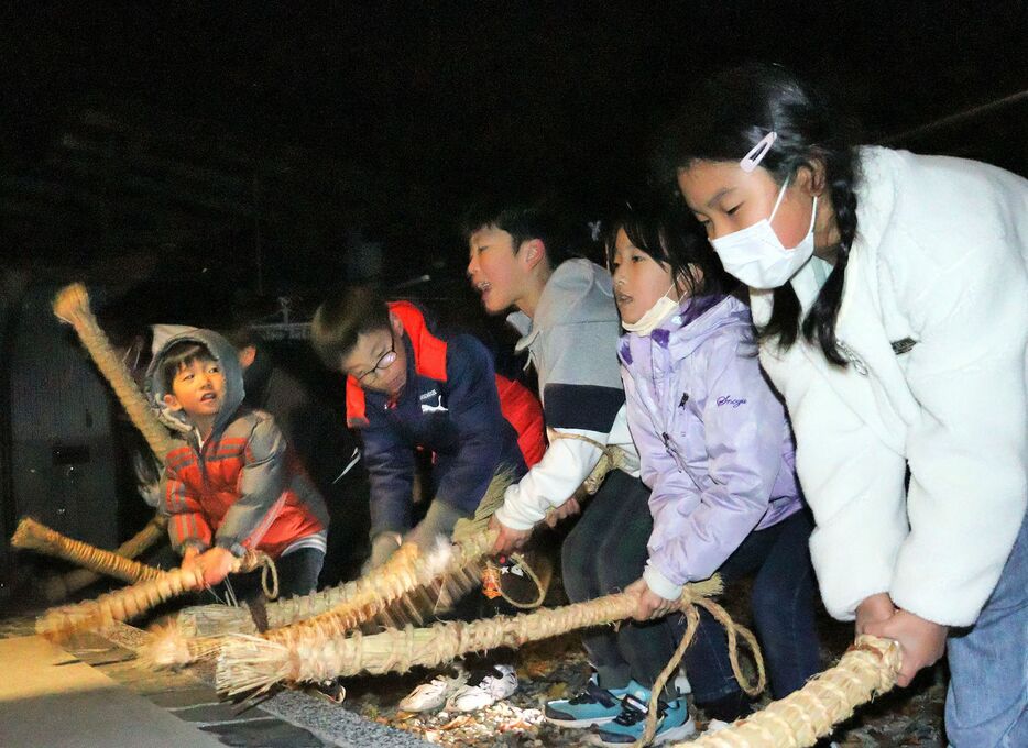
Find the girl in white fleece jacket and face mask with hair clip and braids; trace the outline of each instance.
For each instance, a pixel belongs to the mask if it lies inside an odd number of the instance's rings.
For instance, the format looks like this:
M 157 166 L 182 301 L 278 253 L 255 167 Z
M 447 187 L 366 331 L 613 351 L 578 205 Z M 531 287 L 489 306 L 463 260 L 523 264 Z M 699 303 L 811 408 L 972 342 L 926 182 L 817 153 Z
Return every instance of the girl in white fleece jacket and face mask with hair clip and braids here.
M 952 673 L 956 746 L 1028 745 L 1028 183 L 854 150 L 780 67 L 700 86 L 678 186 L 751 287 L 832 615 Z

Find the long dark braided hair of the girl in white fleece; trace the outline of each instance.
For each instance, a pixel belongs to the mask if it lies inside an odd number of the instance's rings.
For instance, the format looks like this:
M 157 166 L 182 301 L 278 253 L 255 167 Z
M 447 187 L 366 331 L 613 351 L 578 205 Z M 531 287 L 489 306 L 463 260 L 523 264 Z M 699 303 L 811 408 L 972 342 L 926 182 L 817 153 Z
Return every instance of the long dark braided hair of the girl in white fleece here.
M 844 366 L 835 340 L 835 319 L 842 304 L 843 279 L 856 237 L 857 157 L 854 128 L 843 120 L 813 87 L 777 65 L 750 64 L 724 70 L 699 85 L 668 133 L 660 163 L 665 176 L 677 175 L 701 161 L 740 161 L 761 139 L 778 138 L 761 162 L 778 185 L 798 169 L 824 169 L 825 187 L 841 242 L 832 270 L 807 314 L 792 286 L 774 292 L 774 308 L 762 339 L 790 348 L 802 332 L 814 339 L 825 358 Z

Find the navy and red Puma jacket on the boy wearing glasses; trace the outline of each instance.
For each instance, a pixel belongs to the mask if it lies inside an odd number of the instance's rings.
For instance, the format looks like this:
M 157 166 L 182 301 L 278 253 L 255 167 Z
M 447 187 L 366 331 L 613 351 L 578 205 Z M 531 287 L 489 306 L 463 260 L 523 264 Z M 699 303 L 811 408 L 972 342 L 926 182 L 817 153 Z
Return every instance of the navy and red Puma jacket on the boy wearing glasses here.
M 406 386 L 391 402 L 347 378 L 347 422 L 361 430 L 371 480 L 372 535 L 411 527 L 415 450 L 433 453 L 436 499 L 469 515 L 497 468 L 521 475 L 545 451 L 538 400 L 495 373 L 479 340 L 444 340 L 413 304 L 389 307 L 404 328 Z

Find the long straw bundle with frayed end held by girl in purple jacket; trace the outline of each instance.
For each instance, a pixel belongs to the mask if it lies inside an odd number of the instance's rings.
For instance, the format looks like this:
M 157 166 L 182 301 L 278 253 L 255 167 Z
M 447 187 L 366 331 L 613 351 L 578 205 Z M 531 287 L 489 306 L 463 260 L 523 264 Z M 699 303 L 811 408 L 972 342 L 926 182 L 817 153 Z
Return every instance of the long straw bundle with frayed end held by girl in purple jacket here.
M 682 608 L 721 592 L 718 578 L 687 585 Z M 520 647 L 578 628 L 623 620 L 635 610 L 636 598 L 617 593 L 586 603 L 518 616 L 473 623 L 449 622 L 429 628 L 389 630 L 373 636 L 353 634 L 314 646 L 285 646 L 258 637 L 233 636 L 218 658 L 217 686 L 227 694 L 265 691 L 278 681 L 322 681 L 361 672 L 406 672 L 434 667 L 469 652 Z

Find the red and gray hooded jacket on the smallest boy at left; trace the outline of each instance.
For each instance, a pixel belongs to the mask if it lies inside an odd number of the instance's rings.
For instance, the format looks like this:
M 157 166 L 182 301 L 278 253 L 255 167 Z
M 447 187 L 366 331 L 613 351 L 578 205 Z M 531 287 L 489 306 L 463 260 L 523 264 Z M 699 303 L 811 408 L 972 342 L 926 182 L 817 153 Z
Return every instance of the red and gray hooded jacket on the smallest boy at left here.
M 183 340 L 210 350 L 225 373 L 226 395 L 210 437 L 201 442 L 179 419 L 182 441 L 165 457 L 162 498 L 172 546 L 178 551 L 217 546 L 237 556 L 262 550 L 272 558 L 306 547 L 325 550 L 325 502 L 274 419 L 240 405 L 242 372 L 228 341 L 209 330 L 171 338 L 147 372 L 150 396 L 162 403 L 161 362 L 168 346 Z

